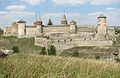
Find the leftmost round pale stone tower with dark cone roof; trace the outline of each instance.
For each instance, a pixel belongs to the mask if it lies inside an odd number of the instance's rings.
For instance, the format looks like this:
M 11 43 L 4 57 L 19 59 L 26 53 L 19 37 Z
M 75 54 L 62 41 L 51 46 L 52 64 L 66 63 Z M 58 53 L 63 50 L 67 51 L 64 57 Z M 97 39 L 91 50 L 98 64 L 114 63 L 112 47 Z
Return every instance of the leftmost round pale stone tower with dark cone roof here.
M 26 34 L 26 21 L 20 20 L 18 24 L 18 36 L 24 36 Z

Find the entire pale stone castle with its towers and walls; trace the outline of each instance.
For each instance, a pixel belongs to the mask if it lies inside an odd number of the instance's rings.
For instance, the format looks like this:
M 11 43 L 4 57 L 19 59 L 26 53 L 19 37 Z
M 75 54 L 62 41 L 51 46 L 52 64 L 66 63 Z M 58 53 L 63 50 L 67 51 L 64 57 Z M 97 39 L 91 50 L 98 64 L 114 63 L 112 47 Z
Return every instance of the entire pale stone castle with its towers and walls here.
M 12 23 L 12 26 L 4 29 L 4 35 L 35 37 L 35 45 L 55 45 L 58 49 L 112 45 L 115 39 L 114 27 L 107 26 L 107 17 L 103 14 L 97 20 L 97 26 L 77 25 L 74 20 L 68 24 L 67 17 L 63 14 L 61 25 L 43 25 L 40 17 L 37 17 L 33 26 L 27 26 L 23 20 Z

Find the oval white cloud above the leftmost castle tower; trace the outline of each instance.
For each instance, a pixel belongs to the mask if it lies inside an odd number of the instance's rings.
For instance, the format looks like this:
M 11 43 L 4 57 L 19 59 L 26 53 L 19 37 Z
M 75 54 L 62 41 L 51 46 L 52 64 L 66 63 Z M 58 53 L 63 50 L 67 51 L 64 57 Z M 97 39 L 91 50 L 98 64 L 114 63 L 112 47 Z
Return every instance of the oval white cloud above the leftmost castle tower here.
M 11 10 L 11 11 L 23 11 L 25 9 L 26 7 L 23 5 L 10 5 L 6 8 L 6 10 Z

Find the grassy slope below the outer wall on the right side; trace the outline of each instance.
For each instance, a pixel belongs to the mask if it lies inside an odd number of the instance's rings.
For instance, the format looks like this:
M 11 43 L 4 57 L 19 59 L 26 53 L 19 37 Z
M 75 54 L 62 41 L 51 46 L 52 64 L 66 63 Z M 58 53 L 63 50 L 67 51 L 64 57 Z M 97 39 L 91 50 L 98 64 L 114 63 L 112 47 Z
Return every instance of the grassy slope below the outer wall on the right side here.
M 106 48 L 99 48 L 94 46 L 84 46 L 84 47 L 74 47 L 71 49 L 64 50 L 62 56 L 70 56 L 74 52 L 79 52 L 79 57 L 82 58 L 95 58 L 99 55 L 100 57 L 106 57 L 110 53 L 116 52 L 120 47 L 120 36 L 116 38 L 116 41 L 112 46 L 107 46 Z

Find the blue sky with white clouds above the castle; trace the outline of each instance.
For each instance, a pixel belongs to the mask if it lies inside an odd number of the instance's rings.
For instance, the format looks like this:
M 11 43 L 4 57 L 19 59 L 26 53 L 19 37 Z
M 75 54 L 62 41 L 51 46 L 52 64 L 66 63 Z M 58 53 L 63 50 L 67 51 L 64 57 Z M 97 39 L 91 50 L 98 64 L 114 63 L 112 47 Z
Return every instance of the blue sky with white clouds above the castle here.
M 108 25 L 120 26 L 120 0 L 0 0 L 0 27 L 24 19 L 33 25 L 36 15 L 44 24 L 51 18 L 60 24 L 63 13 L 67 19 L 80 25 L 96 25 L 97 16 L 107 16 Z

